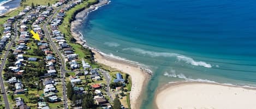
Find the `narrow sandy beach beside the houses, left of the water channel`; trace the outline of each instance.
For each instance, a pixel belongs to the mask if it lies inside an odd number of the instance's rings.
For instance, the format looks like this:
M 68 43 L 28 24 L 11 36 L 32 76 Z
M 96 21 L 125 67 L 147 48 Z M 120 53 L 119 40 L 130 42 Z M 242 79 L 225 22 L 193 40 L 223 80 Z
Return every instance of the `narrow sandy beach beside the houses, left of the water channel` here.
M 94 57 L 97 62 L 111 66 L 112 68 L 119 69 L 131 76 L 132 91 L 130 92 L 130 105 L 133 109 L 139 108 L 139 97 L 141 95 L 142 89 L 145 87 L 150 77 L 150 74 L 148 74 L 146 70 L 142 70 L 139 66 L 133 65 L 129 62 L 104 56 L 96 50 L 92 50 L 92 52 L 95 54 Z

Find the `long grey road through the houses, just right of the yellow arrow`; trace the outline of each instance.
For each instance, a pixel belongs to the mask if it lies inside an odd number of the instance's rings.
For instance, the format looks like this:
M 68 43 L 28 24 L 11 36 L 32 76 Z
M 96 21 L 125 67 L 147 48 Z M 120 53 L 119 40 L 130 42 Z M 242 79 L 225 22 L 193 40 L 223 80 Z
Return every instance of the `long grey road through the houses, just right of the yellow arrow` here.
M 61 76 L 63 77 L 65 75 L 65 73 L 67 72 L 65 70 L 66 67 L 66 61 L 62 55 L 62 53 L 59 51 L 59 49 L 56 47 L 55 42 L 52 41 L 51 36 L 49 34 L 49 31 L 47 30 L 46 26 L 47 24 L 49 24 L 49 22 L 52 20 L 53 15 L 56 14 L 56 12 L 58 11 L 59 8 L 55 9 L 55 11 L 52 12 L 51 16 L 48 18 L 48 20 L 44 23 L 44 33 L 46 38 L 49 40 L 49 42 L 52 45 L 53 50 L 55 50 L 55 52 L 58 54 L 59 58 L 61 59 Z M 64 102 L 64 108 L 67 109 L 68 107 L 68 102 L 67 102 L 67 94 L 66 94 L 66 84 L 65 84 L 65 78 L 62 78 L 62 86 L 63 86 L 63 102 Z

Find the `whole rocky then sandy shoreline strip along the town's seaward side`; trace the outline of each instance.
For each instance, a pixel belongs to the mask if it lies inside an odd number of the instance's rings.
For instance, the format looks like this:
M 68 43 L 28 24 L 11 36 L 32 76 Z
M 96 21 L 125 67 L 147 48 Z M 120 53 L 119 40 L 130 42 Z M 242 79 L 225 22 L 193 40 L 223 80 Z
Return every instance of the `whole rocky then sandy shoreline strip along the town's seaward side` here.
M 96 48 L 91 48 L 86 45 L 86 41 L 84 37 L 78 31 L 78 27 L 81 26 L 82 22 L 84 22 L 90 14 L 90 12 L 97 10 L 99 7 L 103 7 L 106 4 L 109 4 L 111 1 L 103 0 L 99 1 L 99 3 L 91 5 L 90 8 L 82 10 L 75 15 L 75 20 L 71 22 L 70 31 L 72 36 L 76 40 L 76 43 L 81 44 L 83 47 L 90 48 L 94 53 L 94 60 L 103 65 L 110 66 L 112 68 L 121 70 L 124 73 L 127 73 L 132 78 L 132 91 L 130 91 L 130 107 L 140 108 L 142 99 L 141 93 L 145 86 L 147 85 L 148 80 L 150 80 L 150 76 L 152 72 L 150 69 L 146 67 L 142 67 L 138 62 L 133 62 L 129 60 L 122 59 L 117 56 L 109 56 L 106 55 L 100 50 Z

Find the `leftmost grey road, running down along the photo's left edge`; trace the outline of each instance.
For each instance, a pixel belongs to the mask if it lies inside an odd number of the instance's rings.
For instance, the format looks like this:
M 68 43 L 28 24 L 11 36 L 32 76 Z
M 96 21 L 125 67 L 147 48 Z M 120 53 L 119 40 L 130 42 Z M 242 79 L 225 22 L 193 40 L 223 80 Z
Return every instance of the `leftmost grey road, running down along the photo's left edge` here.
M 9 50 L 11 48 L 11 46 L 13 46 L 13 43 L 17 37 L 17 22 L 14 23 L 14 30 L 15 30 L 15 33 L 14 33 L 14 37 L 13 39 L 11 40 L 9 46 L 8 46 L 8 49 L 6 50 L 5 52 L 5 55 L 4 55 L 4 59 L 3 59 L 3 62 L 2 62 L 2 65 L 1 65 L 1 68 L 0 68 L 0 85 L 1 85 L 1 92 L 3 93 L 3 99 L 4 99 L 4 104 L 5 104 L 5 108 L 6 109 L 10 109 L 10 105 L 9 105 L 9 101 L 8 101 L 8 98 L 7 98 L 7 94 L 5 92 L 5 89 L 4 89 L 4 83 L 3 83 L 3 78 L 2 78 L 2 71 L 3 71 L 3 68 L 4 68 L 4 65 L 5 65 L 5 61 L 7 59 L 7 56 L 9 54 Z

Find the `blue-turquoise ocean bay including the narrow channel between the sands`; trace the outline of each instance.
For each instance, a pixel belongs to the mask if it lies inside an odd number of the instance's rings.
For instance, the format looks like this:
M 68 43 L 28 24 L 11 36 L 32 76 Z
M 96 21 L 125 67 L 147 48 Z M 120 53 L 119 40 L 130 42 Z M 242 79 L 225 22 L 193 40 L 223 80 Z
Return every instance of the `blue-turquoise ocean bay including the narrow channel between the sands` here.
M 153 71 L 141 108 L 168 82 L 256 86 L 256 1 L 112 0 L 80 31 L 88 46 Z

